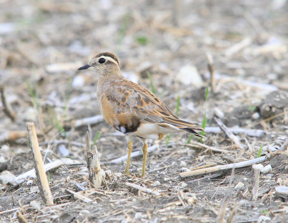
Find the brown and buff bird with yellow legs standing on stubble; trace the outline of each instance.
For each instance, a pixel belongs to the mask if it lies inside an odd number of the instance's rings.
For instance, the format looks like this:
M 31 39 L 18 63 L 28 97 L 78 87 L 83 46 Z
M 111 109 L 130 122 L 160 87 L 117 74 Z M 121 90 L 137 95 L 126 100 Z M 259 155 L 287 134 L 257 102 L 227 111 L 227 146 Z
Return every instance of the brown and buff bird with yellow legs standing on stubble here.
M 166 134 L 177 132 L 204 137 L 196 132 L 204 129 L 177 118 L 154 93 L 124 77 L 114 54 L 96 54 L 88 64 L 78 68 L 85 69 L 98 73 L 96 95 L 103 118 L 126 137 L 128 157 L 123 174 L 130 176 L 132 137 L 143 142 L 142 178 L 145 178 L 147 139 L 161 140 Z

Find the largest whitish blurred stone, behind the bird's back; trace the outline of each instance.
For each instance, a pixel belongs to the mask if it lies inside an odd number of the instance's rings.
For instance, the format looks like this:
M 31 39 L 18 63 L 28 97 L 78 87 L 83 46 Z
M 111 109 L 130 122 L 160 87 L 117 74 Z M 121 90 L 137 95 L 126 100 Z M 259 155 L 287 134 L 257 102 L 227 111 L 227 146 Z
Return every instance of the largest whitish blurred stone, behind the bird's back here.
M 180 81 L 186 86 L 193 85 L 194 87 L 201 87 L 203 79 L 198 72 L 196 66 L 186 65 L 181 67 L 179 73 L 176 75 L 176 80 Z

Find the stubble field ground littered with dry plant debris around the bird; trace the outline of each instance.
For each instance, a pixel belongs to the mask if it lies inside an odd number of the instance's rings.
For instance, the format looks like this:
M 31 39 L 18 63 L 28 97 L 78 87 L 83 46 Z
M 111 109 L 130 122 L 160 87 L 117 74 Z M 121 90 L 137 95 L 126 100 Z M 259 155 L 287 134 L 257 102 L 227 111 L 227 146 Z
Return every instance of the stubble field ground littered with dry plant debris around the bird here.
M 0 174 L 10 181 L 0 182 L 0 221 L 287 222 L 287 11 L 285 0 L 1 1 Z M 206 108 L 202 142 L 149 141 L 145 179 L 137 140 L 133 176 L 121 174 L 124 136 L 103 121 L 97 75 L 76 70 L 104 51 L 173 112 L 179 96 L 180 118 L 202 125 Z M 27 122 L 54 205 L 35 181 Z M 101 157 L 98 188 L 87 183 L 86 131 Z

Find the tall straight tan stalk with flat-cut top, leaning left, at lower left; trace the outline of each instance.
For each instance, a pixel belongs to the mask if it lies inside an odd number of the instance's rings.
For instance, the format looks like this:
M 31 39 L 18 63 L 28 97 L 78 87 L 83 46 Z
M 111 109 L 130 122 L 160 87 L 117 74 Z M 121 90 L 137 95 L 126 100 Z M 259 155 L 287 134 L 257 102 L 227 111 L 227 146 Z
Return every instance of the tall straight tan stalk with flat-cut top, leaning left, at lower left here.
M 28 131 L 28 139 L 30 143 L 30 148 L 33 153 L 34 157 L 34 165 L 35 165 L 35 172 L 36 172 L 36 182 L 40 190 L 41 197 L 45 204 L 53 205 L 53 198 L 51 191 L 49 189 L 49 184 L 46 176 L 46 172 L 44 170 L 44 164 L 42 161 L 41 152 L 39 149 L 37 134 L 34 122 L 26 124 L 27 131 Z

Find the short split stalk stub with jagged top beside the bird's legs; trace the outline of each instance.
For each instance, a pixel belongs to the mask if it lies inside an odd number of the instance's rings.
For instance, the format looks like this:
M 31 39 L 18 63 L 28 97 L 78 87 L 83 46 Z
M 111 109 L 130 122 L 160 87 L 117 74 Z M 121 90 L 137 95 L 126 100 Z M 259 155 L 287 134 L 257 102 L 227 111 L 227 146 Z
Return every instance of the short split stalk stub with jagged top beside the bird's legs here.
M 94 150 L 91 152 L 88 131 L 86 132 L 86 146 L 87 151 L 85 152 L 85 159 L 87 161 L 88 180 L 92 182 L 95 188 L 97 188 L 102 184 L 100 159 L 96 146 L 94 146 Z

